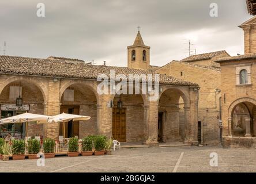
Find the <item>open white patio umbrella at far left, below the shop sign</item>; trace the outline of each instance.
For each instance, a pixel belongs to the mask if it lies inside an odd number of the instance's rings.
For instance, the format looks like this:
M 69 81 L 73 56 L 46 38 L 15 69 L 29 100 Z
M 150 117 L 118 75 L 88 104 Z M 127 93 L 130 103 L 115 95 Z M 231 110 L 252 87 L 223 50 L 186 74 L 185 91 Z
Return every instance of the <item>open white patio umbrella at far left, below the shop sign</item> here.
M 0 120 L 0 124 L 16 124 L 21 122 L 26 122 L 26 136 L 28 136 L 28 122 L 36 121 L 37 123 L 46 123 L 48 122 L 51 116 L 45 116 L 41 114 L 32 114 L 32 113 L 23 113 L 18 114 L 17 116 L 7 117 Z

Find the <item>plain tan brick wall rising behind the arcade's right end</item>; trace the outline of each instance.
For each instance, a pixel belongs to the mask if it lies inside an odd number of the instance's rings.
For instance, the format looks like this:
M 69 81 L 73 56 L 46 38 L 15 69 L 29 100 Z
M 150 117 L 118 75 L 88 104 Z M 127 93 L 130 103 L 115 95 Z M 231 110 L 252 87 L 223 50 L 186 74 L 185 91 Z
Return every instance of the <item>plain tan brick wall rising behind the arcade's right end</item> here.
M 204 62 L 209 61 L 205 60 Z M 220 115 L 219 99 L 221 94 L 216 92 L 216 89 L 221 87 L 220 70 L 173 61 L 161 67 L 157 72 L 198 83 L 200 87 L 198 121 L 201 121 L 202 141 L 209 145 L 220 144 L 220 128 L 217 116 Z M 180 123 L 182 124 L 184 111 L 182 106 L 180 106 L 180 109 L 182 110 L 180 111 Z

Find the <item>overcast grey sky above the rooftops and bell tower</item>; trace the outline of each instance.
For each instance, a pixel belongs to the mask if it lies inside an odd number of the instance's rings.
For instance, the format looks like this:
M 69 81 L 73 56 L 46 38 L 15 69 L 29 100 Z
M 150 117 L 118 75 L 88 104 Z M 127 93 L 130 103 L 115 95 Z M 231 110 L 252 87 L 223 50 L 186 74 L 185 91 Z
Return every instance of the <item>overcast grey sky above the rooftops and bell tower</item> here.
M 37 17 L 37 3 L 46 17 Z M 210 17 L 210 3 L 219 17 Z M 163 66 L 188 55 L 185 39 L 197 53 L 243 51 L 243 30 L 251 18 L 245 0 L 0 0 L 0 54 L 46 58 L 63 56 L 96 64 L 127 66 L 128 45 L 141 26 L 151 47 L 150 64 Z

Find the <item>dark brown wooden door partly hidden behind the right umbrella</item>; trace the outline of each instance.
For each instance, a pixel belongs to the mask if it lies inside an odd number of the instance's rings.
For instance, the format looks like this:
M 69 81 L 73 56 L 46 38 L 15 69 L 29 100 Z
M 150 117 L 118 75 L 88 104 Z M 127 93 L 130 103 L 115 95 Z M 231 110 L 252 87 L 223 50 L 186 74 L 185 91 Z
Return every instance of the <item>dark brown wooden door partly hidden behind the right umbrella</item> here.
M 79 106 L 62 105 L 61 113 L 79 115 Z M 59 124 L 59 135 L 63 135 L 63 122 Z M 65 137 L 67 138 L 74 136 L 79 137 L 79 121 L 65 122 Z

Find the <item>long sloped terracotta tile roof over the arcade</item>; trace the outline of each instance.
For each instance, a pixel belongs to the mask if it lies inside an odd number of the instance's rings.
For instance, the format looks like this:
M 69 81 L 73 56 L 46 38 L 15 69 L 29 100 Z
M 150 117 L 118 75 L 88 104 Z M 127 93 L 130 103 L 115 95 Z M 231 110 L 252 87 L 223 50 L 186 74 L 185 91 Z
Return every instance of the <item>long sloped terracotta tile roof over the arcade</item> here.
M 67 63 L 65 60 L 37 59 L 31 57 L 0 56 L 0 73 L 15 75 L 52 76 L 62 78 L 97 79 L 99 74 L 157 74 L 150 70 L 137 70 L 126 67 L 95 66 L 84 63 Z M 173 76 L 160 74 L 160 83 L 176 86 L 197 86 Z

